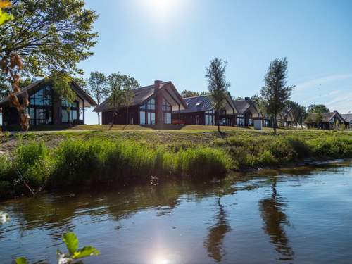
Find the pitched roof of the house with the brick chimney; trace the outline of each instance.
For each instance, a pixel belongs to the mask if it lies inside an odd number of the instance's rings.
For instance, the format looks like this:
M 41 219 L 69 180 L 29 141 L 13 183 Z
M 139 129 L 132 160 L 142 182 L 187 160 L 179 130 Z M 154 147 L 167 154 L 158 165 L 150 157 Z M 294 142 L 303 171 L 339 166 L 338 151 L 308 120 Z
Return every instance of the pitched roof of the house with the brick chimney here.
M 132 103 L 130 106 L 139 106 L 142 105 L 144 102 L 148 101 L 151 99 L 151 97 L 156 95 L 155 89 L 154 89 L 154 84 L 145 86 L 145 87 L 139 87 L 137 89 L 134 89 L 134 97 L 132 99 Z M 180 96 L 180 94 L 177 92 L 177 89 L 175 88 L 174 84 L 172 82 L 162 82 L 160 84 L 160 87 L 158 89 L 158 92 L 161 92 L 163 89 L 174 89 L 175 94 L 177 94 L 178 99 L 184 106 L 184 108 L 187 107 L 186 102 Z M 106 111 L 111 111 L 112 108 L 109 106 L 109 99 L 106 99 L 103 101 L 103 103 L 99 104 L 99 106 L 96 106 L 96 108 L 93 110 L 94 112 L 106 112 Z

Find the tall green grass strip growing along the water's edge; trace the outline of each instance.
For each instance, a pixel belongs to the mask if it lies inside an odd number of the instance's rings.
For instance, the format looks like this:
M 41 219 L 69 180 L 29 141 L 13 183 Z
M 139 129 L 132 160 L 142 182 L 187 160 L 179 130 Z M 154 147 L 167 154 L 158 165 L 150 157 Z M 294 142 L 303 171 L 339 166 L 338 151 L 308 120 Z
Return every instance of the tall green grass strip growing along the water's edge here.
M 23 144 L 0 155 L 0 199 L 32 189 L 80 187 L 151 176 L 213 177 L 229 170 L 352 158 L 352 134 L 236 134 L 212 144 L 144 144 L 130 139 L 66 140 L 55 149 Z M 23 175 L 23 179 L 18 176 Z

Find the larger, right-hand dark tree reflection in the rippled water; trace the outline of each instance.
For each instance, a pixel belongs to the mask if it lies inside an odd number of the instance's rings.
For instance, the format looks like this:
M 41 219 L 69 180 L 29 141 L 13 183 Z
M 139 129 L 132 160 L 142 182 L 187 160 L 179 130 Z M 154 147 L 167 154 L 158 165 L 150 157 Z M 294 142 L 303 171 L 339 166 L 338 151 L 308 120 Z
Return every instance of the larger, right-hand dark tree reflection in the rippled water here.
M 277 178 L 274 177 L 272 182 L 272 196 L 269 199 L 263 199 L 259 202 L 261 215 L 265 222 L 265 232 L 270 236 L 270 241 L 275 246 L 275 250 L 282 255 L 279 259 L 292 260 L 294 251 L 289 246 L 289 239 L 282 227 L 282 225 L 289 225 L 289 220 L 282 210 L 285 203 L 277 195 L 276 183 Z

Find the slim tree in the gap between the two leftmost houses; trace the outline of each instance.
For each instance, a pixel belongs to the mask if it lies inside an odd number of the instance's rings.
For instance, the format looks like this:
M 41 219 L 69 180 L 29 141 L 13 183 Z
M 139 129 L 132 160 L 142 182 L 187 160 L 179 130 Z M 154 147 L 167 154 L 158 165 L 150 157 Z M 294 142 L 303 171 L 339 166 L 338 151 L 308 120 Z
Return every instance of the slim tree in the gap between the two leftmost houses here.
M 108 87 L 106 76 L 98 71 L 90 73 L 90 77 L 87 80 L 87 92 L 90 94 L 98 105 L 108 95 Z M 98 112 L 98 125 L 100 125 L 100 113 Z

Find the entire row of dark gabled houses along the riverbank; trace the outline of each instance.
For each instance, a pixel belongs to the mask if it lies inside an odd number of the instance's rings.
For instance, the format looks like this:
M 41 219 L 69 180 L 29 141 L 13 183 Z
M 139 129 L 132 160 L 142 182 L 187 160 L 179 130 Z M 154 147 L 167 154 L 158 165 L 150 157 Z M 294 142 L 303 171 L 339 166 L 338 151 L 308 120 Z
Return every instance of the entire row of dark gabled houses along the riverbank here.
M 215 125 L 218 113 L 210 95 L 183 98 L 172 82 L 156 80 L 154 84 L 134 89 L 134 97 L 128 108 L 112 109 L 108 99 L 99 106 L 89 94 L 84 92 L 77 83 L 71 84 L 76 100 L 73 103 L 63 101 L 54 93 L 51 82 L 41 80 L 25 87 L 21 93 L 30 98 L 30 125 L 66 125 L 84 124 L 85 108 L 94 106 L 94 112 L 102 113 L 102 124 L 108 125 L 146 125 L 153 127 L 174 127 L 175 125 Z M 19 97 L 21 94 L 17 94 Z M 0 102 L 3 113 L 3 126 L 18 125 L 18 113 L 10 106 L 8 98 Z M 270 118 L 260 114 L 256 104 L 249 97 L 233 100 L 227 94 L 221 110 L 220 125 L 249 127 L 257 129 L 271 127 L 274 123 Z M 314 116 L 311 120 L 317 120 Z M 312 127 L 331 129 L 347 123 L 351 127 L 352 115 L 323 113 L 319 124 L 307 123 Z M 294 124 L 292 111 L 288 108 L 281 113 L 276 122 L 280 126 Z

